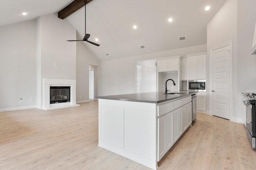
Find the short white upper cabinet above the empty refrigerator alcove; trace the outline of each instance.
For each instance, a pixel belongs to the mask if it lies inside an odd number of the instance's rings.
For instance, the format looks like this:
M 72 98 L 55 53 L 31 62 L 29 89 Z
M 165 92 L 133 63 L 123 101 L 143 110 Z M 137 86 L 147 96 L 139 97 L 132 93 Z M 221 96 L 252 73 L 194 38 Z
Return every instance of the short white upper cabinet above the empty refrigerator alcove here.
M 176 71 L 179 70 L 180 56 L 159 59 L 157 61 L 157 71 Z

